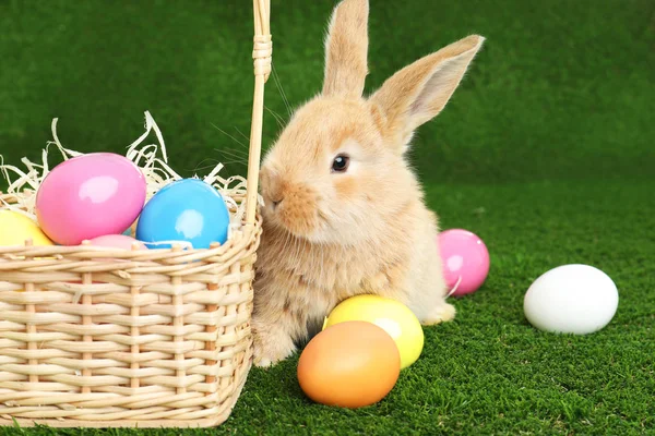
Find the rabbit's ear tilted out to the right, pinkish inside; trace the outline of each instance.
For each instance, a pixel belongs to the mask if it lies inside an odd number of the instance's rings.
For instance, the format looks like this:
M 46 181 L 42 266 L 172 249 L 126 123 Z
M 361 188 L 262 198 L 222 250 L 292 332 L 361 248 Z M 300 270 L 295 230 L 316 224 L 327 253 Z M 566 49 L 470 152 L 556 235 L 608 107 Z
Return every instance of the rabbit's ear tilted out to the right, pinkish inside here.
M 444 108 L 485 38 L 472 35 L 405 66 L 370 97 L 385 133 L 406 145 L 414 131 Z

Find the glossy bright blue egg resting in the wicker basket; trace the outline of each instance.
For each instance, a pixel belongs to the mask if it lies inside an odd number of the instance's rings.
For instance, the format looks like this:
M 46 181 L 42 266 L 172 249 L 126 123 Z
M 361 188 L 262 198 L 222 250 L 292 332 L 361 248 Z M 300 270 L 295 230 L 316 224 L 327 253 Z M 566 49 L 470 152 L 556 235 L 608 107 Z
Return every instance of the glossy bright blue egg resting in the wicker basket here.
M 209 249 L 227 241 L 229 211 L 218 191 L 202 180 L 182 179 L 157 192 L 136 225 L 136 239 L 148 249 L 169 249 L 153 242 L 184 241 L 194 249 Z

